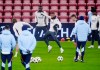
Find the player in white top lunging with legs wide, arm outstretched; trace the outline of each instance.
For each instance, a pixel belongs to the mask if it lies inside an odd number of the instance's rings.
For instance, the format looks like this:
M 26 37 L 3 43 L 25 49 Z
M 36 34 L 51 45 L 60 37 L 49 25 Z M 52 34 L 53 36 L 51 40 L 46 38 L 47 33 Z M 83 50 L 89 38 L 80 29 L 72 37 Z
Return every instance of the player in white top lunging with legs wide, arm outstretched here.
M 49 31 L 46 32 L 46 34 L 44 36 L 45 42 L 48 46 L 48 52 L 50 52 L 51 49 L 52 49 L 52 46 L 50 46 L 49 40 L 48 40 L 49 36 L 51 36 L 56 41 L 56 43 L 58 44 L 58 46 L 60 48 L 60 52 L 63 53 L 64 49 L 61 47 L 60 42 L 57 39 L 57 32 L 58 32 L 58 30 L 61 30 L 61 26 L 62 26 L 61 22 L 56 17 L 54 12 L 51 12 L 50 16 L 45 15 L 43 13 L 42 13 L 42 15 L 44 15 L 44 16 L 46 16 L 50 19 L 50 29 L 49 29 Z

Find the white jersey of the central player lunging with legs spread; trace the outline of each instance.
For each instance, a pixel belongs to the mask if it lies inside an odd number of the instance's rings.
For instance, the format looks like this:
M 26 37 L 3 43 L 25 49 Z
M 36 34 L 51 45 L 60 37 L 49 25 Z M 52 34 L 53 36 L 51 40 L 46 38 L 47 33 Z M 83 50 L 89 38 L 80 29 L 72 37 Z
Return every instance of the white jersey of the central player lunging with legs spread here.
M 54 25 L 55 24 L 58 24 L 59 25 L 58 30 L 61 30 L 61 27 L 62 27 L 61 22 L 59 21 L 58 18 L 55 18 L 55 19 L 51 19 L 51 21 L 50 21 L 50 29 L 49 29 L 49 31 L 55 32 L 55 30 L 54 30 Z

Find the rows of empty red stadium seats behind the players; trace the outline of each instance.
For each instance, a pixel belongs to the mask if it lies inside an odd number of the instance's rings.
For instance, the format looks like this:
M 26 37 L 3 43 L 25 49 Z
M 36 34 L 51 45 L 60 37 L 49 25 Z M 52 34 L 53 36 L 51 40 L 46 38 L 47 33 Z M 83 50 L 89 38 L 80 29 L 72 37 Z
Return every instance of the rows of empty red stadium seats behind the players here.
M 71 22 L 70 16 L 85 16 L 92 6 L 100 15 L 100 0 L 0 0 L 0 23 L 10 23 L 12 18 L 18 21 L 34 22 L 34 12 L 42 5 L 48 14 L 54 11 L 62 23 Z

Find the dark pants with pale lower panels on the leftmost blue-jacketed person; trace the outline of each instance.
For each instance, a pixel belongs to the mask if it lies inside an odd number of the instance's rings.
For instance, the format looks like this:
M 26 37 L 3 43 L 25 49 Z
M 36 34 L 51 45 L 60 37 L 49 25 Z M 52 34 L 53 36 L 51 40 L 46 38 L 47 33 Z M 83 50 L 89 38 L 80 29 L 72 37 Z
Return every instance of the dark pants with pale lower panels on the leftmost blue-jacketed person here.
M 1 54 L 1 60 L 2 60 L 1 70 L 5 70 L 6 60 L 8 61 L 8 70 L 12 70 L 12 56 L 13 53 Z

